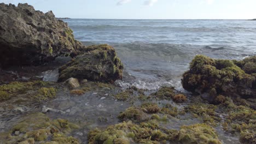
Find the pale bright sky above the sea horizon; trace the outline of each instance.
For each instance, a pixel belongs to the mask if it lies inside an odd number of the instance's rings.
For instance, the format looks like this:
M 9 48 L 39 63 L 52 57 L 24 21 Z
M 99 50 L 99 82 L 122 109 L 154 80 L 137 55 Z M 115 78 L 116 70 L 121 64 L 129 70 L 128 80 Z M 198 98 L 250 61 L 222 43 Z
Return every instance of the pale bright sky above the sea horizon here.
M 0 0 L 77 19 L 256 19 L 256 0 Z

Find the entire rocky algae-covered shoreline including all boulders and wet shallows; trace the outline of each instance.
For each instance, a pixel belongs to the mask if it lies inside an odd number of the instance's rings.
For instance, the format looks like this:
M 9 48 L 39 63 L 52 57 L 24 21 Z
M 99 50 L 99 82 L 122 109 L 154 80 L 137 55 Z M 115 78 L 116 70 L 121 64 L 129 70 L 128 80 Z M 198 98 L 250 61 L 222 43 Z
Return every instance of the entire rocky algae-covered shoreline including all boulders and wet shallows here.
M 28 4 L 2 3 L 0 18 L 0 143 L 256 143 L 255 56 L 195 56 L 190 93 L 123 89 L 112 46 L 84 46 Z

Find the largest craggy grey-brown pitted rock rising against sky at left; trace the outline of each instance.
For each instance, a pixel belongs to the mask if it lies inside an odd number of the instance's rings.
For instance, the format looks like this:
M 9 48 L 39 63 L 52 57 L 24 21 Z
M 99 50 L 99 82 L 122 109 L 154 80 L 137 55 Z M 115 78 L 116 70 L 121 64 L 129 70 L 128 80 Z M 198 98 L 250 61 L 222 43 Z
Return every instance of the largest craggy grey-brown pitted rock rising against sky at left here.
M 85 46 L 52 11 L 31 5 L 0 4 L 0 65 L 44 64 L 57 56 L 76 56 Z

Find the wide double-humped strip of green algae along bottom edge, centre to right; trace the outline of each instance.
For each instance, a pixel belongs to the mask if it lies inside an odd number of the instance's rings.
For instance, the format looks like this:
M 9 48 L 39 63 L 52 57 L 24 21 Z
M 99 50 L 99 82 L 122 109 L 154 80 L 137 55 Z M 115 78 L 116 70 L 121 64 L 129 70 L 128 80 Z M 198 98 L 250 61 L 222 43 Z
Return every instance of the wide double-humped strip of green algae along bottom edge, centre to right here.
M 158 122 L 150 120 L 135 124 L 131 121 L 110 125 L 106 129 L 94 129 L 88 134 L 89 143 L 214 143 L 220 144 L 216 131 L 207 124 L 184 125 L 180 130 L 162 129 Z

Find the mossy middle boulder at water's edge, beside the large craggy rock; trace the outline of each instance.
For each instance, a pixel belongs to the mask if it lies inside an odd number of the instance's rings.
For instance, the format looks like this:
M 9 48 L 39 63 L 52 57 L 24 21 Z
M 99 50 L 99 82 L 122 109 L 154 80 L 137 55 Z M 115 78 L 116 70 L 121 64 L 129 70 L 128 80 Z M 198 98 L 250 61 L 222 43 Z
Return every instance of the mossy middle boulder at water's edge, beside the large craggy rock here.
M 59 69 L 59 82 L 70 77 L 106 82 L 122 79 L 124 67 L 112 46 L 93 45 L 84 52 Z

